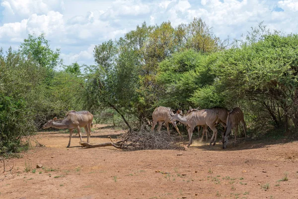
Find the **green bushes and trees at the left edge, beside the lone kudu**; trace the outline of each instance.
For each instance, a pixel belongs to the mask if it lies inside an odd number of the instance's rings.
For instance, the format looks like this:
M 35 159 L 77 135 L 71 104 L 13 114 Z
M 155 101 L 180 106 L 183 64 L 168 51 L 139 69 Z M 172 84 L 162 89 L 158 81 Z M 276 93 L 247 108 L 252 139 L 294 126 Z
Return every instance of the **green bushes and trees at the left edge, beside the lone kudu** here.
M 19 51 L 0 49 L 0 154 L 28 146 L 37 128 L 54 116 L 80 108 L 83 77 L 74 64 L 57 72 L 59 50 L 51 50 L 45 35 L 29 35 Z M 73 70 L 70 70 L 73 69 Z

